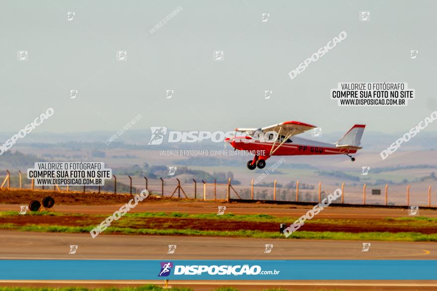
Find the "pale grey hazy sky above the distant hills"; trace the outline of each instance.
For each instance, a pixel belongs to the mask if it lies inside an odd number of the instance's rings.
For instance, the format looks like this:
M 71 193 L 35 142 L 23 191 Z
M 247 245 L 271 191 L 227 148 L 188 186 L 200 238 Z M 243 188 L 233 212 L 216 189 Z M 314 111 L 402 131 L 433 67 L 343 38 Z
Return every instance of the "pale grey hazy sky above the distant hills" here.
M 0 3 L 1 131 L 49 107 L 39 132 L 231 130 L 298 120 L 325 132 L 408 131 L 437 110 L 436 1 L 15 1 Z M 149 30 L 177 7 L 174 18 Z M 359 21 L 369 11 L 370 21 Z M 67 13 L 75 12 L 72 21 Z M 262 13 L 270 13 L 260 22 Z M 288 72 L 346 31 L 293 80 Z M 410 50 L 418 50 L 410 59 Z M 28 60 L 17 60 L 28 51 Z M 127 51 L 127 60 L 117 60 Z M 215 61 L 214 51 L 224 59 Z M 338 82 L 407 82 L 407 107 L 339 107 Z M 70 99 L 70 90 L 78 95 Z M 171 99 L 165 91 L 174 90 Z M 264 90 L 272 90 L 264 100 Z M 437 123 L 427 128 L 437 131 Z

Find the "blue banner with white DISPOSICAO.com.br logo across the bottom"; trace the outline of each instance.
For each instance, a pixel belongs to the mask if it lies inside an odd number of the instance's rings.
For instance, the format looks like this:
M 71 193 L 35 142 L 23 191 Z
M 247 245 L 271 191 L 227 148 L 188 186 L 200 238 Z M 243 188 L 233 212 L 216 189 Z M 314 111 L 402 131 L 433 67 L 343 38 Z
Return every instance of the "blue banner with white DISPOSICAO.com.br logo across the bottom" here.
M 0 260 L 0 280 L 437 280 L 437 260 Z

